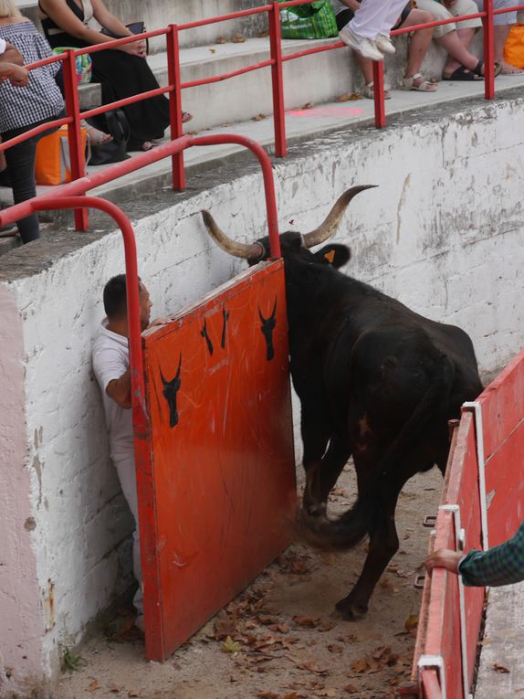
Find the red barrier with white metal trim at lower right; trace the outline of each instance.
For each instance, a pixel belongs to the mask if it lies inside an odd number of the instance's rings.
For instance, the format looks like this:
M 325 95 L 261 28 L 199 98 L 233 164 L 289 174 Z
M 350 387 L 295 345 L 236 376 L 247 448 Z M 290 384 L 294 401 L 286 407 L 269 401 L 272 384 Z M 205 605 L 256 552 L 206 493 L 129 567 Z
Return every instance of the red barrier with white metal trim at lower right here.
M 524 519 L 524 351 L 474 403 L 463 408 L 447 464 L 430 549 L 482 549 Z M 484 531 L 483 531 L 484 530 Z M 435 568 L 424 583 L 412 679 L 404 695 L 468 699 L 484 588 Z

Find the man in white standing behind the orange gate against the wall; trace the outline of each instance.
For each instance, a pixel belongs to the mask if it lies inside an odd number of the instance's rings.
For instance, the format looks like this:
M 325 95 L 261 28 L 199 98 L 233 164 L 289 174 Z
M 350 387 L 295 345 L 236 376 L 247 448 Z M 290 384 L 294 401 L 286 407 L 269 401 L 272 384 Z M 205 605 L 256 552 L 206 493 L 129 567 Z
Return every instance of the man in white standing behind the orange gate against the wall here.
M 143 630 L 140 535 L 131 414 L 131 369 L 125 274 L 120 274 L 108 281 L 104 287 L 103 300 L 107 318 L 102 321 L 100 333 L 93 344 L 93 371 L 102 393 L 110 442 L 110 457 L 119 474 L 122 492 L 135 520 L 133 570 L 139 587 L 133 604 L 137 610 L 135 625 Z M 139 301 L 141 330 L 143 331 L 150 327 L 152 302 L 149 291 L 141 281 L 139 281 Z M 166 322 L 165 318 L 157 318 L 151 325 L 160 325 Z

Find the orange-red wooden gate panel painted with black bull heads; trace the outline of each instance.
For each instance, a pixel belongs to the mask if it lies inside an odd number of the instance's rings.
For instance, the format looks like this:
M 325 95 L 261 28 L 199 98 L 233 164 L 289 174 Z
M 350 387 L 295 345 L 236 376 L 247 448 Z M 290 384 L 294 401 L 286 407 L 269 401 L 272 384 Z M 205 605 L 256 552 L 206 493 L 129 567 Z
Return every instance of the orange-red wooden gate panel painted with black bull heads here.
M 146 653 L 165 659 L 288 544 L 295 501 L 281 259 L 143 338 Z

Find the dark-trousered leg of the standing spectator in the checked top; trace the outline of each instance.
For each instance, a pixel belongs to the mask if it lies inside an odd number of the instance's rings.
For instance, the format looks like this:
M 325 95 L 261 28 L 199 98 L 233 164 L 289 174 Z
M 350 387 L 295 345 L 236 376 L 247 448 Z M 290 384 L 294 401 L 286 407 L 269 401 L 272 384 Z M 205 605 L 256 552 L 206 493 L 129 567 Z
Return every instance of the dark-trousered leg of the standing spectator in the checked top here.
M 37 145 L 33 139 L 18 143 L 5 151 L 5 161 L 11 175 L 15 204 L 37 196 L 35 183 L 35 154 Z M 24 243 L 40 237 L 37 214 L 16 221 Z

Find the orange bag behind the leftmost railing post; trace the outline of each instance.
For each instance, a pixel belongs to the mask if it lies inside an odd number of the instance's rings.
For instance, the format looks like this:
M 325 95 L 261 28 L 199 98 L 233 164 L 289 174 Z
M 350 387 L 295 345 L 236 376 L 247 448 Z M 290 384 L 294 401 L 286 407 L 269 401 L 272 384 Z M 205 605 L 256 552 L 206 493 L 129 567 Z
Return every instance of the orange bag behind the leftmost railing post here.
M 86 153 L 88 130 L 81 129 L 82 153 Z M 35 159 L 35 179 L 37 185 L 64 185 L 71 181 L 71 161 L 69 157 L 68 127 L 49 133 L 37 143 Z

